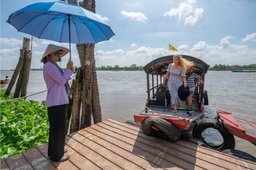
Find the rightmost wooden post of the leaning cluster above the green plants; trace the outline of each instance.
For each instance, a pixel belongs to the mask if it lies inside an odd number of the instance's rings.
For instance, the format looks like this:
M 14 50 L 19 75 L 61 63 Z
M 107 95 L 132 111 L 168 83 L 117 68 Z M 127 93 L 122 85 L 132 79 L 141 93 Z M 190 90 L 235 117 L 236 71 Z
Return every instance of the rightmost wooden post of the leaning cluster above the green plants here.
M 30 72 L 30 66 L 31 66 L 31 56 L 32 56 L 32 52 L 30 50 L 26 50 L 20 97 L 24 97 L 24 96 L 27 95 L 27 84 L 29 84 L 29 72 Z

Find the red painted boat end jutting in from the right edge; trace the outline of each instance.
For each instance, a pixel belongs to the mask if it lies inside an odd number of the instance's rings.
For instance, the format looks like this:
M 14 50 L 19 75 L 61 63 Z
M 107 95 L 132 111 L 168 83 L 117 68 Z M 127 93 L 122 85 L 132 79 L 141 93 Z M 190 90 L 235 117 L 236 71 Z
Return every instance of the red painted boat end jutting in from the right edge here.
M 234 117 L 230 112 L 219 109 L 217 114 L 229 133 L 256 145 L 256 122 Z

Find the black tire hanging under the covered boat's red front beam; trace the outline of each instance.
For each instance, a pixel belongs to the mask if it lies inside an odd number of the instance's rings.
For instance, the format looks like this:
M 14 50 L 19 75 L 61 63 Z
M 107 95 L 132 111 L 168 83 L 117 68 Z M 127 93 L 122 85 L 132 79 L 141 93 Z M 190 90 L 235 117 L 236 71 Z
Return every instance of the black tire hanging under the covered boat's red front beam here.
M 181 132 L 180 130 L 172 123 L 167 122 L 165 119 L 158 117 L 149 117 L 146 120 L 143 120 L 141 123 L 141 129 L 143 133 L 147 136 L 158 137 L 160 133 L 156 133 L 152 127 L 156 125 L 165 133 L 169 138 L 170 142 L 177 142 L 180 139 Z

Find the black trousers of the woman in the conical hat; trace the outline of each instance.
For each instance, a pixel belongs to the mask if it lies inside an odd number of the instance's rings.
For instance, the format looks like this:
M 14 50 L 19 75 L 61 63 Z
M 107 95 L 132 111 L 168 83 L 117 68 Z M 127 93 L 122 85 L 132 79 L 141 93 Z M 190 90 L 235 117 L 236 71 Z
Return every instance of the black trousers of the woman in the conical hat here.
M 64 155 L 68 104 L 47 107 L 50 124 L 48 156 L 54 162 Z

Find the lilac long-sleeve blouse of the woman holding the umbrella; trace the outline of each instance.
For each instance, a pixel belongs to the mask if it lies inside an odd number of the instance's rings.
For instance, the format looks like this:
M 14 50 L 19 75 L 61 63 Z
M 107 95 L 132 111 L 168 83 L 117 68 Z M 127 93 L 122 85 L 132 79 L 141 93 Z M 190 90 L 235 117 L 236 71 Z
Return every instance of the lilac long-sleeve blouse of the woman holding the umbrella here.
M 73 72 L 66 68 L 62 73 L 52 63 L 47 62 L 43 66 L 44 80 L 47 87 L 45 100 L 46 107 L 68 104 L 68 94 L 64 84 L 71 79 Z

